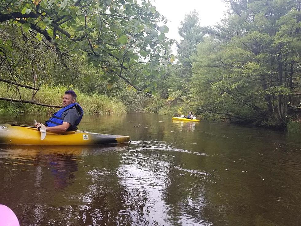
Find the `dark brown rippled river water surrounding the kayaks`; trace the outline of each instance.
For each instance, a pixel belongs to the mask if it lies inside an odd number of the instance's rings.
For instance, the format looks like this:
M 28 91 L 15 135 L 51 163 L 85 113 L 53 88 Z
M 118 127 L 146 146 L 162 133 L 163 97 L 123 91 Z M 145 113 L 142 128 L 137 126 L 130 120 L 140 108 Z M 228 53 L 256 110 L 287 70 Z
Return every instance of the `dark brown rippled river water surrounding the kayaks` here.
M 132 143 L 0 146 L 0 204 L 21 225 L 301 224 L 300 135 L 142 113 L 85 116 L 79 129 Z

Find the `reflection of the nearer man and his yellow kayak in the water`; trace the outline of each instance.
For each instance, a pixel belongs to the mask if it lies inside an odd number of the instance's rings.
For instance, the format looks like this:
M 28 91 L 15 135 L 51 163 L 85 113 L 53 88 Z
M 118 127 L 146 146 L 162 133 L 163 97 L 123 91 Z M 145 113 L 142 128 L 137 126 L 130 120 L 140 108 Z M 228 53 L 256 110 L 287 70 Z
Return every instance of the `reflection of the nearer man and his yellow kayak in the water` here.
M 21 165 L 23 171 L 34 170 L 36 188 L 40 187 L 42 181 L 45 181 L 43 178 L 45 175 L 51 182 L 50 187 L 64 189 L 72 184 L 73 172 L 78 170 L 76 156 L 87 150 L 79 146 L 2 145 L 0 159 L 2 163 L 14 165 L 16 168 Z M 29 167 L 36 169 L 29 169 Z M 17 170 L 11 166 L 6 169 Z

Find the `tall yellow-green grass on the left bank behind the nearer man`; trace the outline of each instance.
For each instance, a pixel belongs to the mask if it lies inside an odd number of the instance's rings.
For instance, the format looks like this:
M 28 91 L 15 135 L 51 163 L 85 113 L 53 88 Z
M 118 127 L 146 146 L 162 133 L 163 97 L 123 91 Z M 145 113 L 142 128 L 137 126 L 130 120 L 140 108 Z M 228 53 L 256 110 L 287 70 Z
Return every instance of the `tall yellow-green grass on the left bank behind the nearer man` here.
M 68 89 L 69 88 L 64 86 L 51 87 L 48 85 L 42 85 L 36 93 L 34 100 L 38 100 L 38 102 L 47 105 L 61 106 L 64 92 Z M 76 101 L 82 106 L 85 114 L 119 114 L 126 112 L 125 105 L 121 101 L 117 100 L 116 97 L 108 97 L 98 94 L 88 95 L 80 93 L 78 89 L 73 88 L 73 90 L 77 94 Z M 5 84 L 0 84 L 0 96 L 10 97 L 13 99 L 19 99 L 21 96 L 22 100 L 31 100 L 32 90 L 19 87 L 19 92 L 16 93 L 13 89 L 8 89 Z M 58 109 L 59 108 L 34 104 L 0 101 L 0 113 L 13 113 L 19 111 L 26 114 L 52 114 Z

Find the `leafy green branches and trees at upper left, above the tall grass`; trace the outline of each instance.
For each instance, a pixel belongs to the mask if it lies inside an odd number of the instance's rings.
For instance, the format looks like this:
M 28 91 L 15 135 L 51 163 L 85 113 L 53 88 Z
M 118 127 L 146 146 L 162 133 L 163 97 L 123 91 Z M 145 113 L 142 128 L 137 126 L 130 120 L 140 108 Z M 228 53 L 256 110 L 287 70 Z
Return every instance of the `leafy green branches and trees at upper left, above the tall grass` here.
M 173 43 L 162 22 L 166 18 L 146 0 L 4 0 L 0 78 L 107 95 L 104 89 L 121 80 L 155 93 L 158 66 L 170 58 Z

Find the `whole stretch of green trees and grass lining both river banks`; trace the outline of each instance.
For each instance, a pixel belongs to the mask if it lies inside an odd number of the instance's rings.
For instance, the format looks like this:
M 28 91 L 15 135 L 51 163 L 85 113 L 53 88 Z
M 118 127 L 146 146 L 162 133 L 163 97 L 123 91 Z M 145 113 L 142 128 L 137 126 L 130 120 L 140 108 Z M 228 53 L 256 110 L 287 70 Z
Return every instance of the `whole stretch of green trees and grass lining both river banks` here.
M 75 89 L 88 114 L 193 111 L 300 132 L 301 1 L 225 2 L 212 27 L 186 14 L 176 42 L 147 0 L 2 0 L 0 113 L 50 113 Z

